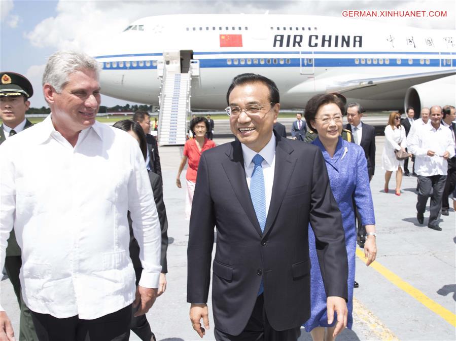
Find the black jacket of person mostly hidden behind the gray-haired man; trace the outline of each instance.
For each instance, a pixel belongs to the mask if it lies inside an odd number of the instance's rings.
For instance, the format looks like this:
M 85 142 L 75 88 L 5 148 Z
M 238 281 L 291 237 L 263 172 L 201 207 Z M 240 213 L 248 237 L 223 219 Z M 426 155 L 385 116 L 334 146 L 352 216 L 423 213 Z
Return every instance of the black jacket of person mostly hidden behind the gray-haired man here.
M 160 220 L 161 228 L 161 272 L 168 272 L 168 263 L 166 260 L 166 251 L 168 249 L 168 218 L 166 216 L 165 203 L 163 202 L 163 185 L 160 176 L 153 172 L 148 172 L 149 180 L 151 181 L 152 192 L 154 193 L 155 206 L 157 207 L 158 220 Z M 128 224 L 130 225 L 130 258 L 133 262 L 133 268 L 142 269 L 141 261 L 139 260 L 139 245 L 133 236 L 131 227 L 130 212 L 128 212 Z M 139 279 L 137 279 L 139 280 Z

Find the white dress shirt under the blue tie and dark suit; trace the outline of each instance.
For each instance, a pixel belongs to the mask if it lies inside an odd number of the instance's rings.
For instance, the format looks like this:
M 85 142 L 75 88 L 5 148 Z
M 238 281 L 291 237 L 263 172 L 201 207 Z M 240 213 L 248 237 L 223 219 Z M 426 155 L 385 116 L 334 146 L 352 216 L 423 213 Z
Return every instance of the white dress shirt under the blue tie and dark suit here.
M 272 134 L 269 142 L 257 153 L 255 150 L 250 149 L 245 144 L 241 143 L 242 146 L 242 156 L 244 158 L 244 170 L 245 170 L 245 179 L 247 179 L 247 185 L 250 190 L 250 179 L 252 177 L 252 172 L 254 170 L 255 164 L 252 162 L 252 159 L 255 155 L 260 154 L 263 157 L 263 162 L 261 167 L 263 168 L 263 177 L 264 177 L 264 191 L 266 199 L 266 216 L 269 212 L 269 205 L 271 203 L 272 196 L 272 184 L 274 183 L 274 167 L 275 167 L 275 136 Z

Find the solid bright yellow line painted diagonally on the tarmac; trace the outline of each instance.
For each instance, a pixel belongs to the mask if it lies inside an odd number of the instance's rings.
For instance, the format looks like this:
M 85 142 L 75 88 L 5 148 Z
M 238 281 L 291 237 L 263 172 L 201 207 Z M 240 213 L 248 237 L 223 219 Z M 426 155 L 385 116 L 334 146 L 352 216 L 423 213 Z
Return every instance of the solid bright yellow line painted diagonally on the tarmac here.
M 361 249 L 357 248 L 356 254 L 363 262 L 366 262 L 366 258 L 364 258 L 364 252 Z M 453 327 L 456 327 L 456 315 L 454 315 L 448 309 L 443 308 L 437 302 L 433 301 L 431 298 L 426 296 L 422 291 L 419 291 L 415 287 L 405 282 L 398 275 L 382 266 L 378 261 L 374 261 L 372 264 L 370 264 L 370 267 L 378 271 L 381 275 L 383 275 L 387 280 L 396 285 L 399 289 L 404 290 L 406 293 L 408 293 L 410 296 L 412 296 L 426 308 L 430 309 L 431 311 L 439 315 Z

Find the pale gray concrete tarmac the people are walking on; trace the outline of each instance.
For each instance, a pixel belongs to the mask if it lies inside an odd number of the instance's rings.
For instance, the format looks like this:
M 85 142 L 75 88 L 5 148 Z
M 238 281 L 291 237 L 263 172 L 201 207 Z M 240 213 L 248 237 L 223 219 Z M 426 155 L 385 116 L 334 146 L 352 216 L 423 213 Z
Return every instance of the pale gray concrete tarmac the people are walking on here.
M 216 144 L 231 140 L 215 138 Z M 376 167 L 371 181 L 377 260 L 366 267 L 362 249 L 358 248 L 355 279 L 360 287 L 355 288 L 353 329 L 345 329 L 337 340 L 456 340 L 455 213 L 451 208 L 449 216 L 442 216 L 442 231 L 428 229 L 428 202 L 424 224 L 418 224 L 416 178 L 412 176 L 403 178 L 401 196 L 394 193 L 394 176 L 390 192 L 384 193 L 383 142 L 383 136 L 376 137 Z M 157 340 L 161 341 L 200 339 L 191 327 L 190 305 L 186 302 L 189 224 L 184 214 L 186 188 L 175 184 L 182 151 L 183 146 L 160 147 L 169 224 L 169 273 L 166 292 L 156 300 L 147 317 Z M 181 180 L 184 177 L 185 172 Z M 19 309 L 9 280 L 1 283 L 0 299 L 18 335 Z M 210 300 L 208 305 L 211 310 Z M 214 340 L 213 321 L 211 312 L 211 329 L 206 331 L 204 340 Z M 310 341 L 310 334 L 301 331 L 299 340 Z M 132 333 L 130 340 L 139 338 Z

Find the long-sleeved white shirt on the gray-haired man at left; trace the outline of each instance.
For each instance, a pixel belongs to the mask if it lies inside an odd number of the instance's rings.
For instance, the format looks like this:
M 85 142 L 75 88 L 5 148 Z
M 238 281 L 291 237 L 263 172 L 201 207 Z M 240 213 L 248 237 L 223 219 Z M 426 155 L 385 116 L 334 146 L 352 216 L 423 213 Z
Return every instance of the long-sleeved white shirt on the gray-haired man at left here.
M 141 248 L 139 284 L 158 287 L 160 223 L 136 140 L 96 122 L 73 147 L 51 115 L 0 145 L 0 268 L 14 226 L 26 306 L 95 319 L 135 297 L 127 211 Z

